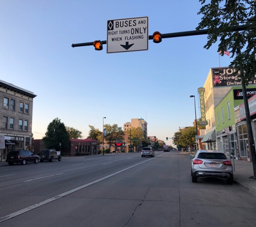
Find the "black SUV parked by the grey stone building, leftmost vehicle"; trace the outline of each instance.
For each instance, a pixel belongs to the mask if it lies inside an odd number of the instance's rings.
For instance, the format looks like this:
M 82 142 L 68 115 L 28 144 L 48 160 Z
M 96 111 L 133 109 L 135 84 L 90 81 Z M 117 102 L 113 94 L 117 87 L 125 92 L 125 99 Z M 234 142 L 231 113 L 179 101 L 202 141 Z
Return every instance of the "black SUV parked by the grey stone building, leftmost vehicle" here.
M 15 163 L 25 165 L 27 162 L 34 162 L 34 164 L 38 164 L 38 160 L 39 156 L 31 151 L 16 150 L 10 151 L 7 154 L 5 161 L 8 162 L 10 166 L 12 166 Z

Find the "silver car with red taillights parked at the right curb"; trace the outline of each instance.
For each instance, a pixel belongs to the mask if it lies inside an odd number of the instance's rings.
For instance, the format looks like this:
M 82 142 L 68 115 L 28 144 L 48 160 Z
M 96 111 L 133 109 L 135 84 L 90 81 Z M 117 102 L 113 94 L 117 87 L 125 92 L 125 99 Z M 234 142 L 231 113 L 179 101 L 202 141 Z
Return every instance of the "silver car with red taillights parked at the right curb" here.
M 232 162 L 223 152 L 199 150 L 191 160 L 191 177 L 192 182 L 197 178 L 220 178 L 232 185 Z

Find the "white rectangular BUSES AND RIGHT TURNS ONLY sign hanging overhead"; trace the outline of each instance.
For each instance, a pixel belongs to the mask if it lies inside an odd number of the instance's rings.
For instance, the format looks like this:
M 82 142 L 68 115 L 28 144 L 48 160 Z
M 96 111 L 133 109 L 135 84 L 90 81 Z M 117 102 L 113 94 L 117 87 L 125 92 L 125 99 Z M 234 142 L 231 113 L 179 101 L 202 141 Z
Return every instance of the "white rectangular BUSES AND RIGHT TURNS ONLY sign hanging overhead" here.
M 148 17 L 107 21 L 107 53 L 147 50 Z

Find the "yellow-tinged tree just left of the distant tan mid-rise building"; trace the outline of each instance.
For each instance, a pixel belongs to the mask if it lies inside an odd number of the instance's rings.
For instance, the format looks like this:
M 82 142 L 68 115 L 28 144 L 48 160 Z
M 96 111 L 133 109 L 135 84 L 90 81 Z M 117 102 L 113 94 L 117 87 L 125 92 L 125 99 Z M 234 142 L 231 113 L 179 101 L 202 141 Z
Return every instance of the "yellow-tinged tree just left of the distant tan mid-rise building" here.
M 104 127 L 107 130 L 107 135 L 104 137 L 109 147 L 115 142 L 115 140 L 123 140 L 123 130 L 122 127 L 118 127 L 117 124 L 105 124 Z

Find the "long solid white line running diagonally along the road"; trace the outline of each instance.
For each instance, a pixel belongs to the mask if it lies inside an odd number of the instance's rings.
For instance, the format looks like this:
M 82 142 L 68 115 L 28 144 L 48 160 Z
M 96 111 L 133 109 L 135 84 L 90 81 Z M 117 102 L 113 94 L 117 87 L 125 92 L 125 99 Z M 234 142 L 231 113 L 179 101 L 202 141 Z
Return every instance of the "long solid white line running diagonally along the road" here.
M 159 157 L 159 156 L 161 156 L 161 155 L 163 155 L 163 154 L 160 154 L 160 155 L 158 155 L 157 157 Z M 157 157 L 155 157 L 155 158 L 157 158 Z M 153 159 L 155 159 L 155 158 L 151 158 L 151 159 L 148 159 L 148 160 L 146 160 L 146 161 L 150 161 L 150 160 L 153 160 Z M 81 189 L 86 188 L 86 187 L 88 187 L 88 186 L 94 185 L 94 183 L 98 183 L 98 182 L 100 182 L 100 181 L 103 181 L 103 180 L 105 180 L 105 179 L 107 179 L 107 178 L 110 178 L 111 176 L 114 176 L 114 175 L 116 175 L 116 174 L 122 173 L 123 171 L 127 171 L 127 169 L 130 169 L 130 168 L 133 168 L 133 167 L 135 167 L 135 166 L 141 165 L 141 164 L 143 164 L 143 163 L 146 162 L 146 161 L 142 161 L 142 162 L 140 162 L 140 163 L 138 163 L 138 164 L 135 164 L 135 165 L 133 165 L 133 166 L 127 167 L 127 168 L 125 168 L 125 169 L 122 169 L 121 171 L 117 171 L 117 172 L 115 172 L 115 173 L 113 173 L 113 174 L 110 174 L 110 175 L 108 175 L 108 176 L 105 176 L 104 178 L 101 178 L 101 179 L 92 181 L 91 183 L 87 183 L 86 185 L 82 185 L 82 186 L 80 186 L 80 187 L 78 187 L 78 188 L 74 188 L 74 189 L 72 189 L 72 190 L 70 190 L 70 191 L 66 191 L 66 192 L 63 193 L 63 194 L 59 194 L 59 195 L 54 196 L 54 197 L 52 197 L 52 198 L 49 198 L 48 200 L 45 200 L 45 201 L 43 201 L 43 202 L 40 202 L 40 203 L 31 205 L 30 207 L 24 208 L 24 209 L 22 209 L 22 210 L 19 210 L 19 211 L 17 211 L 17 212 L 14 212 L 14 213 L 12 213 L 12 214 L 10 214 L 10 215 L 6 215 L 6 216 L 4 216 L 4 217 L 1 217 L 1 218 L 0 218 L 0 223 L 6 221 L 6 220 L 8 220 L 8 219 L 11 219 L 11 218 L 13 218 L 13 217 L 16 217 L 16 216 L 18 216 L 18 215 L 24 214 L 25 212 L 28 212 L 28 211 L 30 211 L 30 210 L 36 209 L 36 208 L 38 208 L 38 207 L 41 207 L 42 205 L 45 205 L 45 204 L 47 204 L 47 203 L 53 202 L 53 201 L 55 201 L 55 200 L 58 200 L 59 198 L 62 198 L 62 197 L 64 197 L 64 196 L 66 196 L 66 195 L 69 195 L 69 194 L 71 194 L 71 193 L 74 193 L 75 191 L 78 191 L 78 190 L 81 190 Z

